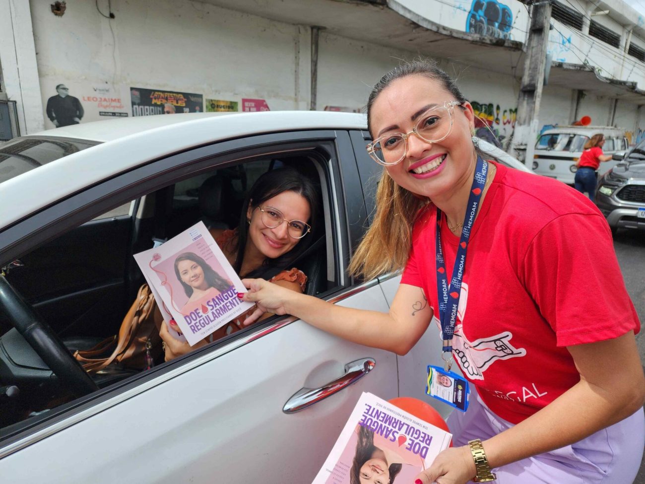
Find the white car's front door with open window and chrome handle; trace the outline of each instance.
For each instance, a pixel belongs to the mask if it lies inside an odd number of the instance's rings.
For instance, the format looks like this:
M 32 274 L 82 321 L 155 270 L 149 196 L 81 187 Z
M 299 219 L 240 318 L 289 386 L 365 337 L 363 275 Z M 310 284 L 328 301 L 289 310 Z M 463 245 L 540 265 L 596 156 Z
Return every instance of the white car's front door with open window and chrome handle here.
M 12 227 L 4 240 L 14 248 L 5 257 L 19 254 L 12 245 L 17 237 L 28 250 L 97 216 L 101 207 L 116 207 L 213 166 L 294 150 L 319 157 L 324 180 L 331 284 L 320 297 L 386 311 L 378 281 L 354 285 L 344 274 L 365 210 L 348 210 L 348 200 L 356 203 L 351 194 L 361 188 L 343 131 L 254 136 L 149 163 Z M 398 395 L 397 384 L 392 353 L 276 317 L 5 429 L 0 475 L 12 483 L 306 483 L 361 392 L 390 399 Z

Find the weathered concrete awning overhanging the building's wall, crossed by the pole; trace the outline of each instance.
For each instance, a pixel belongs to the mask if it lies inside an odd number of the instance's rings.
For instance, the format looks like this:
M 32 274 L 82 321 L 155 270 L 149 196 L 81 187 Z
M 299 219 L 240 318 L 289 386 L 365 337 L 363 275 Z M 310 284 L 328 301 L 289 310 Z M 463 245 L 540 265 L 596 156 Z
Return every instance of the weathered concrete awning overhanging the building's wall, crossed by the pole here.
M 462 69 L 521 78 L 523 43 L 470 34 L 415 14 L 396 0 L 205 0 L 212 5 L 295 25 L 321 26 L 329 34 L 446 59 Z M 610 0 L 608 0 L 610 1 Z M 645 104 L 645 91 L 631 81 L 604 77 L 592 66 L 551 63 L 549 85 Z

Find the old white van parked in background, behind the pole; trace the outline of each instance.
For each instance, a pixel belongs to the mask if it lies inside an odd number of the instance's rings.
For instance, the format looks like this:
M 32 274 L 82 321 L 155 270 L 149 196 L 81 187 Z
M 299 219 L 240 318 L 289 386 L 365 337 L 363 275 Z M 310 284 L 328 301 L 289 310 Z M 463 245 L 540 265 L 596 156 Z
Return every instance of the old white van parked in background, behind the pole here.
M 611 126 L 557 126 L 544 131 L 537 143 L 533 155 L 533 172 L 539 175 L 557 178 L 568 185 L 573 185 L 573 177 L 578 161 L 584 149 L 584 143 L 597 133 L 604 134 L 604 154 L 627 149 L 627 138 L 622 128 Z M 616 160 L 600 163 L 599 176 L 618 163 Z M 528 165 L 528 163 L 527 163 Z

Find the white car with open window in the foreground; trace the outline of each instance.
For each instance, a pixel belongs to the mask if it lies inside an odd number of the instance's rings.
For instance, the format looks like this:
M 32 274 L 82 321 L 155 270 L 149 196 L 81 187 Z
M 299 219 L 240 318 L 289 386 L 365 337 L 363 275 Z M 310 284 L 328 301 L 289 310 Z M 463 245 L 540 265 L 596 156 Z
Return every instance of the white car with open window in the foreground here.
M 361 392 L 430 401 L 435 327 L 398 357 L 275 316 L 91 378 L 68 350 L 118 331 L 143 282 L 132 254 L 199 219 L 235 225 L 277 165 L 321 184 L 306 292 L 387 311 L 397 274 L 346 275 L 382 169 L 368 138 L 362 115 L 305 111 L 115 119 L 0 145 L 0 480 L 308 483 Z M 213 177 L 225 189 L 200 205 Z

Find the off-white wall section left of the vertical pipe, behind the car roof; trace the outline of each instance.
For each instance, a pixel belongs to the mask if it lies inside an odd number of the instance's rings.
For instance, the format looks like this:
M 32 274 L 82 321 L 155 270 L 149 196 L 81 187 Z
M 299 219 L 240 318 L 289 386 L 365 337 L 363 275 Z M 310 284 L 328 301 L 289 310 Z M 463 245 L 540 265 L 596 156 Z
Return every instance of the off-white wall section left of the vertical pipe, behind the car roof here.
M 97 97 L 116 99 L 112 110 L 132 114 L 130 88 L 238 103 L 260 98 L 272 110 L 308 108 L 306 27 L 190 0 L 114 0 L 114 20 L 94 2 L 68 5 L 63 17 L 52 15 L 49 4 L 31 2 L 43 103 L 64 83 L 81 99 L 83 121 L 110 112 Z M 48 119 L 46 126 L 53 127 Z

